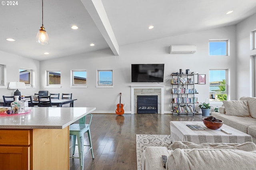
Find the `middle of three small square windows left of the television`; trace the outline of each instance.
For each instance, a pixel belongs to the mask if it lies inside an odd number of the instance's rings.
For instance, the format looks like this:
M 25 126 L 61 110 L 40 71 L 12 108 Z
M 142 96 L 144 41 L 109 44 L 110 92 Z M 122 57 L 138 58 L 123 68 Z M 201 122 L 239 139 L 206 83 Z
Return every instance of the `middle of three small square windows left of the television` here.
M 71 70 L 71 86 L 86 86 L 86 70 Z

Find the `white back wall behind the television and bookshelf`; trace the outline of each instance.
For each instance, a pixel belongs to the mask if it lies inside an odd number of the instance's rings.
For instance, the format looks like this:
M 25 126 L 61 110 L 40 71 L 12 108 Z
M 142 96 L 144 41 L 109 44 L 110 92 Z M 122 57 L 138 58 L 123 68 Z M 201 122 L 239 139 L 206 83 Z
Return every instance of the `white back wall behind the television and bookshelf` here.
M 230 56 L 210 57 L 208 55 L 209 39 L 230 39 Z M 73 98 L 78 100 L 75 107 L 96 107 L 98 113 L 115 113 L 116 104 L 119 103 L 119 93 L 122 93 L 122 103 L 125 113 L 130 113 L 130 85 L 148 84 L 131 83 L 132 63 L 164 63 L 164 78 L 168 78 L 172 72 L 197 71 L 206 74 L 206 84 L 196 85 L 199 92 L 199 102 L 209 98 L 209 69 L 224 68 L 230 71 L 230 99 L 236 99 L 236 27 L 228 26 L 206 31 L 198 31 L 173 37 L 165 37 L 152 41 L 134 43 L 120 47 L 120 56 L 114 56 L 110 49 L 72 55 L 59 59 L 40 62 L 40 90 L 48 90 L 50 93 L 73 93 Z M 169 54 L 170 45 L 197 45 L 194 54 Z M 88 88 L 70 88 L 70 70 L 86 69 Z M 113 70 L 114 88 L 96 88 L 97 69 Z M 62 88 L 46 88 L 45 70 L 60 70 Z M 164 83 L 170 89 L 170 81 Z M 209 100 L 209 99 L 208 99 Z M 207 100 L 207 101 L 208 101 Z M 170 113 L 170 90 L 165 91 L 165 113 Z M 196 107 L 197 110 L 198 107 Z

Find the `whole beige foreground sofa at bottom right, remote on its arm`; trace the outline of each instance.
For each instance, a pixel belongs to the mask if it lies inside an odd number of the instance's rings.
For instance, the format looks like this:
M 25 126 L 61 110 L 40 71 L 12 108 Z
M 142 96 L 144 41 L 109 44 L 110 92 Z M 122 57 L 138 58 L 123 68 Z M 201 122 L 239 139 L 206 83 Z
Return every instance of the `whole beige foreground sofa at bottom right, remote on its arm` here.
M 175 141 L 171 149 L 147 147 L 143 170 L 255 170 L 256 145 L 252 142 L 202 143 Z M 168 156 L 166 168 L 162 155 Z

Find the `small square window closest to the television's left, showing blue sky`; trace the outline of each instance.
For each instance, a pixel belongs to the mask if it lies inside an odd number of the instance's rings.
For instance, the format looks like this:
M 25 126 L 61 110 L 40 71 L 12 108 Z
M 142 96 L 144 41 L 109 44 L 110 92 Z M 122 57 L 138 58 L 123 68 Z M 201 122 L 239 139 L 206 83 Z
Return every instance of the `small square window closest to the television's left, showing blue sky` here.
M 98 70 L 97 86 L 113 86 L 112 70 Z

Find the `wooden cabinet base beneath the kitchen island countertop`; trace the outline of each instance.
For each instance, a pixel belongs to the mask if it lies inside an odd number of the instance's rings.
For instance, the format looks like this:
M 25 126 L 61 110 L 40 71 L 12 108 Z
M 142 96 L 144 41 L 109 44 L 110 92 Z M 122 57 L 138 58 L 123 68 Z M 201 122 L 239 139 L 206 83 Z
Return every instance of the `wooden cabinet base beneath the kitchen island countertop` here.
M 0 170 L 69 170 L 69 126 L 0 129 Z

